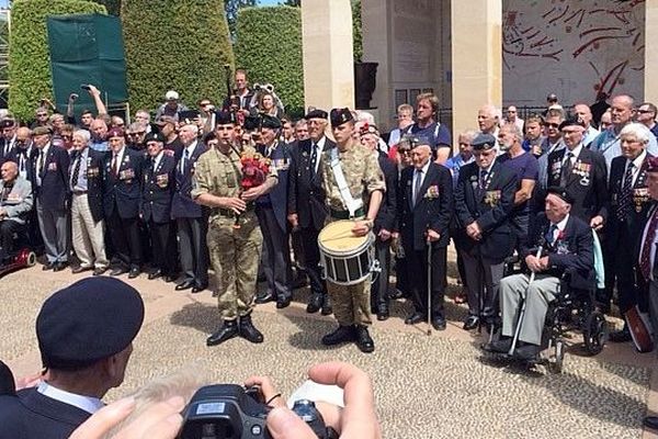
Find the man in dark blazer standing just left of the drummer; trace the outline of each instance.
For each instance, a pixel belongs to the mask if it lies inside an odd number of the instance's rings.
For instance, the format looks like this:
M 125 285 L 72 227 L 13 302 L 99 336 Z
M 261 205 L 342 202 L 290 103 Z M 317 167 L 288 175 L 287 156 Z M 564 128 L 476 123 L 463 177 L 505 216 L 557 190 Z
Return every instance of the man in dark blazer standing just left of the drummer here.
M 299 230 L 304 264 L 310 281 L 310 299 L 306 312 L 317 313 L 321 308 L 325 315 L 331 314 L 331 305 L 320 272 L 318 248 L 318 234 L 327 218 L 320 161 L 325 150 L 336 147 L 325 135 L 327 116 L 327 112 L 319 109 L 306 114 L 310 137 L 299 139 L 291 148 L 287 191 L 287 219 L 293 229 Z

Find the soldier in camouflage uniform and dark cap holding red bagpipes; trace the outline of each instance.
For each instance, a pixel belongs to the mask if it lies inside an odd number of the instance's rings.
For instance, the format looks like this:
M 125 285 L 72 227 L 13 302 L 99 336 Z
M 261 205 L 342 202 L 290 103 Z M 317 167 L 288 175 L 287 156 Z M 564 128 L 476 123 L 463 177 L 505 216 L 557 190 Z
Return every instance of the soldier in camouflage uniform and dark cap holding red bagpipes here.
M 263 335 L 251 323 L 251 311 L 263 236 L 253 201 L 276 184 L 276 173 L 272 170 L 261 185 L 241 190 L 242 164 L 230 113 L 217 114 L 215 132 L 208 133 L 205 143 L 208 150 L 197 161 L 192 196 L 211 207 L 207 243 L 223 319 L 206 345 L 237 336 L 259 344 Z

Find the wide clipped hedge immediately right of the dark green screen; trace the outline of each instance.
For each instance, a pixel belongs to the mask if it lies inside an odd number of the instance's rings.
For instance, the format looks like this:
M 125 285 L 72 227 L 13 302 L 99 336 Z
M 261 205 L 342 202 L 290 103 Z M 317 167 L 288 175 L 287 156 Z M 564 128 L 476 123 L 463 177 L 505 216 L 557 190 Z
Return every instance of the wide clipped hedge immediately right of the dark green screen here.
M 234 56 L 223 0 L 123 0 L 121 18 L 133 109 L 158 106 L 171 89 L 188 106 L 225 98 Z

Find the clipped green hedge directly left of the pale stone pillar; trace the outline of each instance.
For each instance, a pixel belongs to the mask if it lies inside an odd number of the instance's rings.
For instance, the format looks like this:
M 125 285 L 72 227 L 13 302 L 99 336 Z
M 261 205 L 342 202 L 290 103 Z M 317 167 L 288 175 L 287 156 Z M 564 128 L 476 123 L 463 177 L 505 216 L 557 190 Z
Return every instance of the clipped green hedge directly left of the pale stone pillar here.
M 236 63 L 251 85 L 271 83 L 292 116 L 304 114 L 299 8 L 245 8 L 238 12 Z

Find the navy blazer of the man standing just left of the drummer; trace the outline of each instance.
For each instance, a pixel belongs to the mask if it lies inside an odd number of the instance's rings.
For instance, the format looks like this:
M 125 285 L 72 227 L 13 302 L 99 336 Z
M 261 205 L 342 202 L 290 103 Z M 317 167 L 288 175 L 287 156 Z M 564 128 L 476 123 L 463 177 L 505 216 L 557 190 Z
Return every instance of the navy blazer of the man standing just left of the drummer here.
M 287 213 L 296 213 L 300 227 L 320 230 L 325 226 L 328 209 L 325 204 L 327 193 L 322 188 L 321 165 L 318 171 L 310 169 L 313 142 L 297 142 L 291 146 L 291 169 L 288 171 Z M 336 147 L 336 143 L 325 137 L 322 151 Z M 320 161 L 324 154 L 319 154 Z

